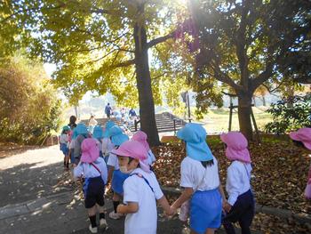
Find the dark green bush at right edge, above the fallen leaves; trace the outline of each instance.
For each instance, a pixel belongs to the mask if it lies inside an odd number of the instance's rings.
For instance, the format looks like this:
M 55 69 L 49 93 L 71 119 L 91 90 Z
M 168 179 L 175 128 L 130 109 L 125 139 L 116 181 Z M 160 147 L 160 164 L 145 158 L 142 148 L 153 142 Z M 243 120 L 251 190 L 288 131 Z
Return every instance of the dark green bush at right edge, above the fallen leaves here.
M 283 98 L 267 110 L 273 122 L 266 125 L 268 133 L 289 133 L 300 127 L 311 126 L 311 93 Z

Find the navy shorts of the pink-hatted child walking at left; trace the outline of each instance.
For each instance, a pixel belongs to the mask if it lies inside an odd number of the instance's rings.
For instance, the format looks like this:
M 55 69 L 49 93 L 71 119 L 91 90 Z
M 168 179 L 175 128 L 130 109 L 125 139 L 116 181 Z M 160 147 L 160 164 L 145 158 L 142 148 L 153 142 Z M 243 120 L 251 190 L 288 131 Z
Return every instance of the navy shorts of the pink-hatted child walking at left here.
M 84 181 L 84 206 L 89 209 L 98 204 L 104 206 L 105 183 L 101 176 L 85 178 Z

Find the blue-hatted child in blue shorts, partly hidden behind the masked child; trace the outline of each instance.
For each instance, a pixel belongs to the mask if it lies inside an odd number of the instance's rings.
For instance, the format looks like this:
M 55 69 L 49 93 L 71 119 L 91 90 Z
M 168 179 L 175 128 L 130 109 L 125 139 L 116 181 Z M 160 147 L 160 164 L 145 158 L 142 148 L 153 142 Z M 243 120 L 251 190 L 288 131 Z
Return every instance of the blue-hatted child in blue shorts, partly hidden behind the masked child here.
M 114 144 L 115 149 L 117 149 L 125 141 L 129 140 L 129 137 L 125 135 L 122 132 L 122 129 L 117 125 L 114 125 L 109 129 L 108 135 L 111 142 Z M 117 220 L 121 217 L 121 215 L 116 213 L 116 207 L 120 204 L 120 200 L 124 194 L 123 184 L 124 180 L 128 177 L 128 174 L 120 171 L 117 157 L 112 152 L 109 154 L 108 166 L 108 182 L 111 182 L 111 187 L 114 191 L 114 197 L 112 198 L 114 210 L 109 214 L 109 217 Z

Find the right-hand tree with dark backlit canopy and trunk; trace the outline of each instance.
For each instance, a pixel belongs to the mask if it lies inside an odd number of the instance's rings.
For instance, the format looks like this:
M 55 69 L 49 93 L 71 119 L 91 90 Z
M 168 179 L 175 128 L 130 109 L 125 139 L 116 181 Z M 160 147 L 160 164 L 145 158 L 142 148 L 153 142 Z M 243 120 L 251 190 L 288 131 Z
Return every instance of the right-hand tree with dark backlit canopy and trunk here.
M 192 28 L 185 31 L 195 64 L 193 83 L 206 93 L 219 85 L 231 89 L 239 101 L 240 129 L 251 139 L 251 97 L 256 89 L 283 77 L 310 76 L 304 62 L 310 61 L 311 4 L 198 0 L 191 1 L 189 9 Z M 206 96 L 198 96 L 203 111 Z

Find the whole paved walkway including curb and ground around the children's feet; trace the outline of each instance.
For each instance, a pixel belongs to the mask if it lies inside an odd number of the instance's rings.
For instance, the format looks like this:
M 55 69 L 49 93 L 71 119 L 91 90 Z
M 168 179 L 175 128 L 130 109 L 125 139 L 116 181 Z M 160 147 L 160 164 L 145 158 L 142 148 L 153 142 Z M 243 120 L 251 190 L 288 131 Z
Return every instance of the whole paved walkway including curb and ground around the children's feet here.
M 0 158 L 0 234 L 90 233 L 84 203 L 66 181 L 62 160 L 57 146 Z M 112 210 L 110 200 L 106 210 Z M 108 230 L 99 233 L 124 233 L 124 220 L 107 222 Z M 167 220 L 159 214 L 157 233 L 179 234 L 184 229 L 177 217 Z

